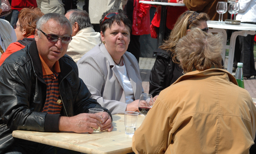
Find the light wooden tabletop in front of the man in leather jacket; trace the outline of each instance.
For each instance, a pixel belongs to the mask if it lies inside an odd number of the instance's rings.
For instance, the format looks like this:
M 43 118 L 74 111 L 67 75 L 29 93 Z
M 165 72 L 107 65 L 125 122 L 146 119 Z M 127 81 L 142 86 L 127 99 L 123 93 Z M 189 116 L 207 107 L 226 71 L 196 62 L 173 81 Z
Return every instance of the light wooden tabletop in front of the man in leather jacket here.
M 127 154 L 131 153 L 132 135 L 125 134 L 125 116 L 112 115 L 112 132 L 89 133 L 47 133 L 25 130 L 13 131 L 13 137 L 35 141 L 55 147 L 66 148 L 86 154 Z M 137 128 L 145 116 L 138 115 Z

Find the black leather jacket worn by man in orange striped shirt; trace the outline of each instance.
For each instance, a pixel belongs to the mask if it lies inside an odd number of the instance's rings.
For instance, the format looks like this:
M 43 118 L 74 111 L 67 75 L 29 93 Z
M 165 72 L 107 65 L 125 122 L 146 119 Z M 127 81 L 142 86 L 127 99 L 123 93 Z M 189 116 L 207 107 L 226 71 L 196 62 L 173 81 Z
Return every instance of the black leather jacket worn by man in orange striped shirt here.
M 10 55 L 0 66 L 0 153 L 13 144 L 13 130 L 59 132 L 59 116 L 87 113 L 100 108 L 85 83 L 78 77 L 72 58 L 59 59 L 59 93 L 63 103 L 60 114 L 41 112 L 46 100 L 46 83 L 36 42 Z M 108 112 L 109 115 L 110 112 Z

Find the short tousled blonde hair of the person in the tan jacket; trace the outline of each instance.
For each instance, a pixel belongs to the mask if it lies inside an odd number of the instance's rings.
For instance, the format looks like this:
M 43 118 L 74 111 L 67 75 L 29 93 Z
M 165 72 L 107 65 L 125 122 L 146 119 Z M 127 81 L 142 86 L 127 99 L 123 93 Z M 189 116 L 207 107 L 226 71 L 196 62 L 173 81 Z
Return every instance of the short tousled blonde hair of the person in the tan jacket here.
M 176 54 L 184 73 L 204 71 L 211 67 L 223 68 L 222 41 L 221 34 L 203 32 L 199 28 L 193 28 L 181 38 L 176 46 Z

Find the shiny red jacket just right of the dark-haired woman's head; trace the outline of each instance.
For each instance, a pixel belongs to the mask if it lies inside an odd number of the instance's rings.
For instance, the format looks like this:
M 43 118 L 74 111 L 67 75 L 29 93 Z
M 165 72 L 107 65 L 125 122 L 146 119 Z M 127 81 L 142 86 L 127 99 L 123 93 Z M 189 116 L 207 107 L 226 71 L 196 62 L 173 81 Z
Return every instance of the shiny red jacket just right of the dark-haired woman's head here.
M 150 1 L 150 0 L 145 0 Z M 150 34 L 150 4 L 139 3 L 139 0 L 133 0 L 133 35 Z

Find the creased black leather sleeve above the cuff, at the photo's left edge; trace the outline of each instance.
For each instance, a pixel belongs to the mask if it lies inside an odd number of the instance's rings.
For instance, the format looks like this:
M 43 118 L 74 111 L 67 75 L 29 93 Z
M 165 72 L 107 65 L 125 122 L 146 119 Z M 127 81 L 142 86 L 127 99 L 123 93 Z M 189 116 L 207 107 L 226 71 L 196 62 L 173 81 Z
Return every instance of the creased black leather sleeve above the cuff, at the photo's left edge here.
M 40 102 L 30 97 L 35 92 L 29 77 L 31 70 L 27 69 L 31 67 L 27 66 L 31 63 L 22 66 L 18 63 L 19 61 L 0 66 L 1 118 L 11 130 L 45 131 L 47 113 L 34 112 L 33 109 Z

